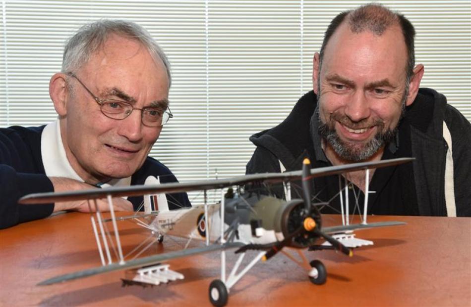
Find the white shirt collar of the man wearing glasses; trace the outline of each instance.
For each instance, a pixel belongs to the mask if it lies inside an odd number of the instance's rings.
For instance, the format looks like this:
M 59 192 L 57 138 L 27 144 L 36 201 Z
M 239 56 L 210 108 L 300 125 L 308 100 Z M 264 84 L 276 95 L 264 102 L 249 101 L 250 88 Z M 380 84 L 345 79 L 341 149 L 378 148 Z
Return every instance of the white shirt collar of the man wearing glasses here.
M 60 136 L 59 121 L 48 124 L 41 134 L 41 156 L 44 170 L 48 177 L 65 177 L 84 182 L 74 171 L 65 155 L 62 137 Z M 100 187 L 129 186 L 131 177 L 112 179 L 98 184 Z

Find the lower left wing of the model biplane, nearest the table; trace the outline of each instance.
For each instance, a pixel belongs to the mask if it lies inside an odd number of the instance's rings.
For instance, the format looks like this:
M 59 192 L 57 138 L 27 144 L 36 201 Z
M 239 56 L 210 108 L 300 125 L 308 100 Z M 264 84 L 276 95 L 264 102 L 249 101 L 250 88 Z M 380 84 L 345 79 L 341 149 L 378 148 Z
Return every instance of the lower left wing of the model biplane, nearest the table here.
M 186 257 L 186 256 L 192 256 L 192 255 L 197 255 L 197 254 L 204 254 L 204 253 L 209 253 L 209 252 L 218 251 L 218 250 L 226 250 L 226 249 L 229 249 L 229 248 L 240 247 L 242 245 L 243 245 L 243 243 L 237 243 L 237 242 L 225 243 L 223 245 L 213 244 L 213 245 L 205 246 L 205 247 L 202 247 L 202 248 L 180 250 L 180 251 L 176 251 L 176 252 L 170 252 L 170 253 L 164 253 L 164 254 L 159 254 L 159 255 L 153 255 L 153 256 L 138 258 L 138 259 L 135 259 L 135 260 L 131 260 L 131 261 L 122 263 L 122 264 L 112 263 L 112 264 L 108 264 L 108 265 L 105 265 L 105 266 L 99 266 L 99 267 L 86 269 L 86 270 L 83 270 L 83 271 L 78 271 L 78 272 L 74 272 L 74 273 L 59 275 L 59 276 L 44 280 L 44 281 L 40 282 L 38 285 L 51 285 L 51 284 L 55 284 L 55 283 L 58 283 L 58 282 L 73 280 L 73 279 L 77 279 L 77 278 L 84 278 L 84 277 L 93 276 L 93 275 L 96 275 L 96 274 L 101 274 L 101 273 L 106 273 L 106 272 L 111 272 L 111 271 L 117 271 L 117 270 L 122 270 L 122 269 L 126 269 L 126 268 L 142 267 L 142 266 L 145 266 L 145 265 L 160 263 L 160 262 L 163 262 L 163 261 L 166 261 L 166 260 L 171 260 L 171 259 L 176 259 L 176 258 L 181 258 L 181 257 Z

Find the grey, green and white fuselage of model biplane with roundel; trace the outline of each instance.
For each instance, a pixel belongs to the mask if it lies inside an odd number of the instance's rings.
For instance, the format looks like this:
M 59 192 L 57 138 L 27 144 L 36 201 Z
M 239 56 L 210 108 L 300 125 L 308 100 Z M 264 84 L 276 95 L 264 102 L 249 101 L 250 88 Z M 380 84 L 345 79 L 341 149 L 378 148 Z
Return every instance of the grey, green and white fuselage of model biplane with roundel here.
M 224 230 L 233 228 L 234 242 L 244 244 L 270 244 L 282 241 L 297 228 L 290 225 L 293 208 L 302 207 L 300 199 L 290 202 L 273 196 L 245 193 L 225 199 Z M 208 205 L 208 220 L 204 219 L 204 206 L 194 206 L 160 212 L 152 226 L 160 234 L 210 241 L 221 236 L 221 204 Z

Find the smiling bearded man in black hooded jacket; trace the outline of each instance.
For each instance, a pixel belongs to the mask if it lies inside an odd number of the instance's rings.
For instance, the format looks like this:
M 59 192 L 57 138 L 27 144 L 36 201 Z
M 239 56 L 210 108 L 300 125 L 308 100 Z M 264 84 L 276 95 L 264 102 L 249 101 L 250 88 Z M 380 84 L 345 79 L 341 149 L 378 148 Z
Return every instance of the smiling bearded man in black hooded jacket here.
M 297 170 L 304 157 L 323 167 L 412 156 L 370 173 L 368 214 L 471 216 L 471 125 L 445 96 L 419 88 L 414 35 L 408 19 L 378 4 L 335 17 L 314 55 L 314 90 L 283 123 L 250 137 L 247 173 Z M 345 177 L 350 202 L 362 204 L 364 172 Z M 315 178 L 314 188 L 330 202 L 322 212 L 340 212 L 339 178 Z

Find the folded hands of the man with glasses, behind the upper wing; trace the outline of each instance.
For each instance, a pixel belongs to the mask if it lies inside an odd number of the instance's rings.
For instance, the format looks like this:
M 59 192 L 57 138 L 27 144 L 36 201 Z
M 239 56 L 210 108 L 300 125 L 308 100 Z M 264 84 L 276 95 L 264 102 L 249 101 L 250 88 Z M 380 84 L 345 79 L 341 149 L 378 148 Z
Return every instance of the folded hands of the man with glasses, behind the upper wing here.
M 85 182 L 80 182 L 74 179 L 63 177 L 49 177 L 54 185 L 55 192 L 64 192 L 72 190 L 90 190 L 97 189 L 97 187 Z M 110 211 L 110 206 L 107 199 L 97 200 L 77 200 L 69 202 L 56 202 L 54 205 L 54 212 L 62 210 L 73 210 L 78 212 L 96 212 L 96 206 L 101 212 Z M 121 198 L 113 198 L 113 208 L 115 211 L 133 211 L 131 202 Z

